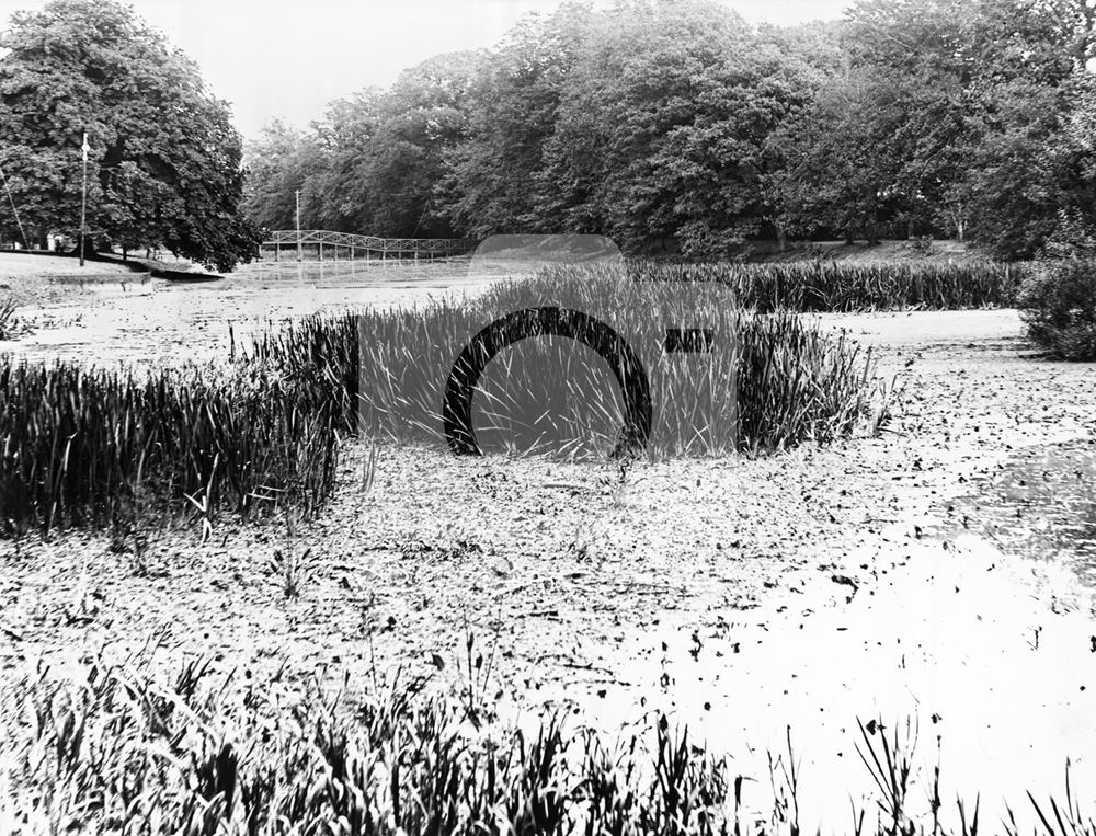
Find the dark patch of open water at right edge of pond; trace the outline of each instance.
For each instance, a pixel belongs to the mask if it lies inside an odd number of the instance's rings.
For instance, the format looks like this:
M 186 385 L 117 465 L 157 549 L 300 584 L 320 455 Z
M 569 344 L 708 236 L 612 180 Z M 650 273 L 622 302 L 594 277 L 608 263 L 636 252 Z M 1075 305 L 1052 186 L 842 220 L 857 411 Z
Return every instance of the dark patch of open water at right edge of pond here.
M 952 531 L 969 528 L 1003 551 L 1060 560 L 1096 585 L 1096 438 L 1017 450 L 948 506 Z

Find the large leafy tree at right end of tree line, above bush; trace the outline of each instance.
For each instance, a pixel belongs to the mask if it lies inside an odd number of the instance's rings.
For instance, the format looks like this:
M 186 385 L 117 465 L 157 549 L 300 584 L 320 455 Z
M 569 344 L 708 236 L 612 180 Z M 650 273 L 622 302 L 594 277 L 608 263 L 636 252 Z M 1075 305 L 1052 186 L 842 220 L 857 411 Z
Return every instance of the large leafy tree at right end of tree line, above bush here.
M 859 0 L 846 70 L 787 128 L 778 185 L 804 233 L 881 222 L 1034 254 L 1070 205 L 1057 153 L 1093 54 L 1091 0 Z

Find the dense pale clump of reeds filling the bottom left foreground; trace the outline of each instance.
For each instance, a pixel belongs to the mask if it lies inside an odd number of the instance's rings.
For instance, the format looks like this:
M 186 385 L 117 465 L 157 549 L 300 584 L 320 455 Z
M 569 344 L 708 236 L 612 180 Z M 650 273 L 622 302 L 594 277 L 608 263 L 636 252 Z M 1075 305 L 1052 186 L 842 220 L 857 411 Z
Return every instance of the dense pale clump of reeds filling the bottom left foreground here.
M 553 718 L 533 734 L 475 731 L 460 700 L 395 683 L 351 711 L 318 688 L 286 708 L 255 690 L 229 701 L 207 674 L 191 662 L 173 686 L 144 666 L 23 683 L 9 814 L 24 833 L 718 832 L 726 765 L 665 719 L 648 760 L 635 740 L 606 746 Z

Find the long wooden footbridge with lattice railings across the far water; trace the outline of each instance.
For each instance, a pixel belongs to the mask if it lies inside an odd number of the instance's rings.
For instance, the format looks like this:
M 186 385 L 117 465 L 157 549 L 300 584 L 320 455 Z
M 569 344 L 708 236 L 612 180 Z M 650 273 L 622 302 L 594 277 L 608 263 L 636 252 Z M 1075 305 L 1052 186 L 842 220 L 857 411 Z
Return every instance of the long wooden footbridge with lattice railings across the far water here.
M 260 254 L 274 251 L 274 261 L 305 259 L 445 259 L 476 249 L 477 241 L 464 238 L 377 238 L 322 229 L 282 229 L 267 232 Z

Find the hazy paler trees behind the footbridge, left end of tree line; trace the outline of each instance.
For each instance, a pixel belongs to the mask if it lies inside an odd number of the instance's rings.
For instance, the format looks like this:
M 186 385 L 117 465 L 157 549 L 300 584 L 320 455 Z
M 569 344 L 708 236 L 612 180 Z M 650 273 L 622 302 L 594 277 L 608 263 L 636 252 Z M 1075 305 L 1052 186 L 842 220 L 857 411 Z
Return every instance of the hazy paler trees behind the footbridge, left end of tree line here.
M 307 134 L 274 122 L 249 142 L 244 210 L 260 228 L 292 229 L 300 190 L 306 228 L 449 237 L 434 190 L 467 121 L 475 57 L 432 58 L 390 91 L 363 90 L 328 106 Z

